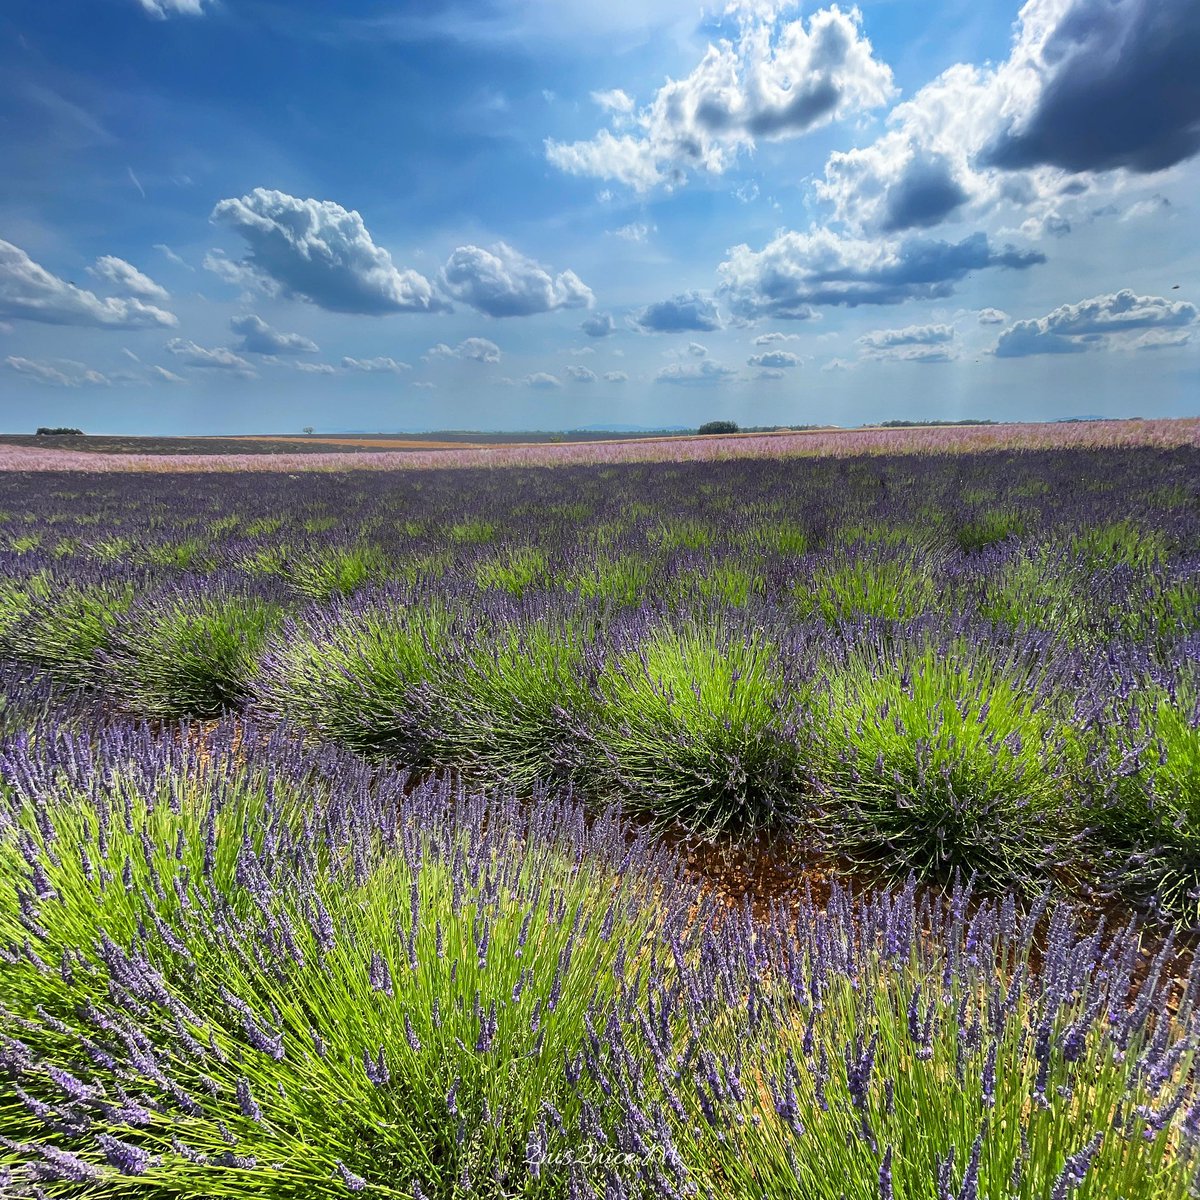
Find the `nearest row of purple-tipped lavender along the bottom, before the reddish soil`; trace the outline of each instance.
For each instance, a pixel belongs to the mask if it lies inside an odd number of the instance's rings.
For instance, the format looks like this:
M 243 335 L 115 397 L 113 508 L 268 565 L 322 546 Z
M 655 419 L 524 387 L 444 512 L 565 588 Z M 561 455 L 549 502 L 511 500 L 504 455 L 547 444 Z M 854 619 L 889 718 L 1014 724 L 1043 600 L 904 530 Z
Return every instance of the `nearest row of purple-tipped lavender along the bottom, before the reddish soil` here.
M 612 811 L 282 728 L 0 749 L 13 1195 L 1184 1200 L 1196 1004 L 1066 906 L 719 912 Z

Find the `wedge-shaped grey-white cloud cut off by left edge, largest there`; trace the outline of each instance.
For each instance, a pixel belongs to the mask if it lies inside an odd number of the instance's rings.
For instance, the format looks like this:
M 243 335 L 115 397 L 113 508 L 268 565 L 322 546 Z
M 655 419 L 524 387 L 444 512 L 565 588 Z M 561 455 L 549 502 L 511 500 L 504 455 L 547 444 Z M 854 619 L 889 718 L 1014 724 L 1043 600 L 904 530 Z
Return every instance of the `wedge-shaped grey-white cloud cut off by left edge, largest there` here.
M 0 317 L 100 329 L 170 329 L 179 324 L 174 313 L 143 300 L 102 300 L 60 280 L 7 241 L 0 241 Z

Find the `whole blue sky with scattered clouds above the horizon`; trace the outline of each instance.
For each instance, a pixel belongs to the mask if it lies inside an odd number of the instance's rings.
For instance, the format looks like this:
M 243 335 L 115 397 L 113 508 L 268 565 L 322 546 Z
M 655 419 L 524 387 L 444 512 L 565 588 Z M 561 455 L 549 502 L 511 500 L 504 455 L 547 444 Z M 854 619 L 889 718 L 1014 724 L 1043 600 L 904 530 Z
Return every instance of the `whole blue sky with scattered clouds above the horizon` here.
M 1200 410 L 1195 0 L 10 0 L 0 427 Z

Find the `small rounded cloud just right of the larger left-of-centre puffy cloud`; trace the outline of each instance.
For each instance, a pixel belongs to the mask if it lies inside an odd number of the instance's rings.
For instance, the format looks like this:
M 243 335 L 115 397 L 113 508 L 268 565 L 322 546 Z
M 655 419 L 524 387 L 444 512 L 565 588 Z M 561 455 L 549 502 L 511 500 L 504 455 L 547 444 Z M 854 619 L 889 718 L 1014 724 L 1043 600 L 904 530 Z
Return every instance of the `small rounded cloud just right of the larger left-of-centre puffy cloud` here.
M 556 308 L 590 308 L 592 289 L 574 272 L 550 271 L 505 242 L 460 246 L 442 269 L 448 295 L 488 317 L 528 317 Z

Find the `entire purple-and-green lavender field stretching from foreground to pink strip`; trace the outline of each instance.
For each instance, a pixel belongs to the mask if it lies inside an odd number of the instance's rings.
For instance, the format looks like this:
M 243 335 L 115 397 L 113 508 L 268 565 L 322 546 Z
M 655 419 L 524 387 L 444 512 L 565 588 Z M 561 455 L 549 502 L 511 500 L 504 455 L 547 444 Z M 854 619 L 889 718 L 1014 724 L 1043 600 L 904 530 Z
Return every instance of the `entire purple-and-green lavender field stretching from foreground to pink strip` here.
M 1147 425 L 8 451 L 0 1195 L 1200 1194 L 1200 446 Z

